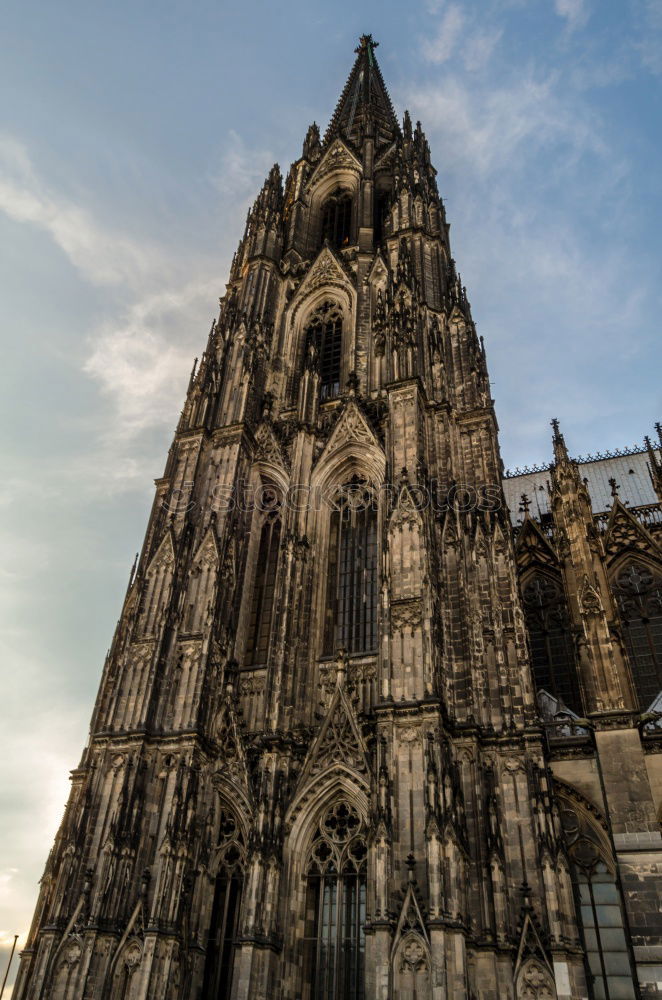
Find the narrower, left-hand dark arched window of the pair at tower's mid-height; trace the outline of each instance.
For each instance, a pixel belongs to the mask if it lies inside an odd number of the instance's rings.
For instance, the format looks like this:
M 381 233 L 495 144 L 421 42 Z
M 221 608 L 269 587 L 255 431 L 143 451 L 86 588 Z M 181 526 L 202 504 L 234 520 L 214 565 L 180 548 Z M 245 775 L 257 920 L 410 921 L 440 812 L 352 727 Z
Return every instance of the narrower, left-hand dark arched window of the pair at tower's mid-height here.
M 273 498 L 274 505 L 277 498 Z M 281 521 L 277 506 L 269 512 L 260 531 L 255 583 L 251 595 L 246 643 L 246 666 L 263 666 L 269 655 L 269 640 L 274 613 Z

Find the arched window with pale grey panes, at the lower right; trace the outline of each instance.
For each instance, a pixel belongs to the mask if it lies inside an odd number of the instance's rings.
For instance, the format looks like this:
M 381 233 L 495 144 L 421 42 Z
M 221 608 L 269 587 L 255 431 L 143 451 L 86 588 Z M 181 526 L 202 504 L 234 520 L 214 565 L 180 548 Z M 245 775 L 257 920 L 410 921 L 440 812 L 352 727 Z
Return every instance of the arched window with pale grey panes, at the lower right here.
M 594 1000 L 634 1000 L 621 894 L 614 875 L 587 824 L 574 809 L 561 810 L 561 824 L 569 847 L 578 915 L 593 977 L 591 995 Z

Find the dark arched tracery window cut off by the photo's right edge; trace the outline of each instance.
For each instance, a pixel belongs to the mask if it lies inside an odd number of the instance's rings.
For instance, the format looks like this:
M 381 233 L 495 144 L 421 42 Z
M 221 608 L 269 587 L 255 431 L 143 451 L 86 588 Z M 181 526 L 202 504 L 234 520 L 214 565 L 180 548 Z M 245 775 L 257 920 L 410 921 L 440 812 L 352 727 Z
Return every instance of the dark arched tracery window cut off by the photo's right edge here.
M 630 562 L 614 581 L 639 707 L 662 689 L 662 575 Z

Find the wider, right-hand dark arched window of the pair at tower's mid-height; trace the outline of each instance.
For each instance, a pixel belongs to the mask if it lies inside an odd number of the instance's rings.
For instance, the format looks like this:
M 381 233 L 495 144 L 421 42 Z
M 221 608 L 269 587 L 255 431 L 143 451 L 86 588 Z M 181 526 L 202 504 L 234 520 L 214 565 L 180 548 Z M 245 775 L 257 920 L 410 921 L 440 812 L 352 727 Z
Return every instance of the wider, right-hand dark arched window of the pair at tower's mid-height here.
M 355 478 L 335 497 L 329 527 L 324 654 L 377 647 L 377 511 L 370 486 Z

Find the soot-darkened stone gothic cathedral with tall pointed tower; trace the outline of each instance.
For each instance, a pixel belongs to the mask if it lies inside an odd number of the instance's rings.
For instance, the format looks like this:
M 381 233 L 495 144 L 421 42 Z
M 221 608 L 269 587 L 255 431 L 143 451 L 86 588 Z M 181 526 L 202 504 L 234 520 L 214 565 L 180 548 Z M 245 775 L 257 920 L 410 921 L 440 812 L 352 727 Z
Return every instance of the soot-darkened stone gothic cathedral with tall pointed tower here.
M 17 1000 L 662 995 L 660 448 L 504 473 L 375 47 L 248 214 Z

